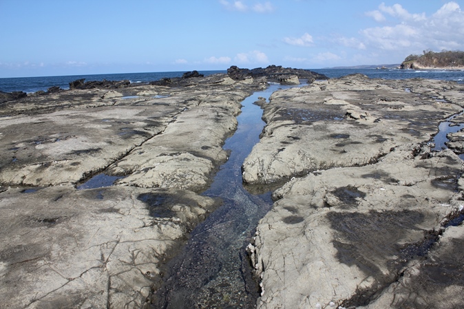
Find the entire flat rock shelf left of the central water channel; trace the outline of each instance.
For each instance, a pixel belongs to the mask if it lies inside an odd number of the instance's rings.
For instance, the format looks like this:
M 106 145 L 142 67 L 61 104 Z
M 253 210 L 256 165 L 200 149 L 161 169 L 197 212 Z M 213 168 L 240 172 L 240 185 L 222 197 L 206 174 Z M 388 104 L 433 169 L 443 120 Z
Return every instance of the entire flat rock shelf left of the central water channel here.
M 162 266 L 217 208 L 199 193 L 240 102 L 266 83 L 126 86 L 1 103 L 1 308 L 149 306 Z

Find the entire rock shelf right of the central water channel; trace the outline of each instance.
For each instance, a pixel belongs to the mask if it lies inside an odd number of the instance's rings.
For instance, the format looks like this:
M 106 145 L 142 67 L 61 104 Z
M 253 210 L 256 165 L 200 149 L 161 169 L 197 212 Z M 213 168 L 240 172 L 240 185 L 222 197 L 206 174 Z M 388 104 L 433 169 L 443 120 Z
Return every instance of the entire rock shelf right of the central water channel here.
M 248 247 L 257 308 L 464 306 L 463 161 L 458 147 L 434 150 L 463 91 L 356 75 L 260 104 L 244 180 L 286 183 Z

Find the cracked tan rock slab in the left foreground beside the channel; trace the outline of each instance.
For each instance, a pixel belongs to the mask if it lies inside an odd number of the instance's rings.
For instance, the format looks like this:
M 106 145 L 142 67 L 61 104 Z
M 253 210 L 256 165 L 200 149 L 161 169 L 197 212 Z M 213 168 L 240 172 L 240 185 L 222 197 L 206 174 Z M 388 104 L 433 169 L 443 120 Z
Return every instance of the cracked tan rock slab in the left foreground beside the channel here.
M 140 308 L 160 284 L 160 263 L 213 200 L 167 189 L 50 187 L 8 189 L 0 209 L 6 308 Z

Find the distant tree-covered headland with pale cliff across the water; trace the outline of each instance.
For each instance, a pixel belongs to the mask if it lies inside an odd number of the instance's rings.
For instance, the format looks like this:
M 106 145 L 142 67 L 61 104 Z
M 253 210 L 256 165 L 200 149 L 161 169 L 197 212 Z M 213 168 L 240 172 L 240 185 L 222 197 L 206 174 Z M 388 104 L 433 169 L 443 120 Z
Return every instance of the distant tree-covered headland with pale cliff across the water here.
M 422 55 L 407 56 L 400 67 L 401 69 L 464 69 L 464 52 L 424 50 Z

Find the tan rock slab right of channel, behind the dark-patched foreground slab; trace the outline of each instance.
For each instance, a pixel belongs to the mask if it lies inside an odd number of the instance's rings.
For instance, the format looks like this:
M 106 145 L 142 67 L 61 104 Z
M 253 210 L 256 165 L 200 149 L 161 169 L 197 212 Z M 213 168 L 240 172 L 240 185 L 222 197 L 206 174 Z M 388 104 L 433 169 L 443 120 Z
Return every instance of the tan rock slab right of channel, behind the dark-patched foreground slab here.
M 275 92 L 264 105 L 262 139 L 243 164 L 244 182 L 375 162 L 398 145 L 430 140 L 440 120 L 461 110 L 430 98 L 441 89 L 418 95 L 388 83 L 348 76 Z

